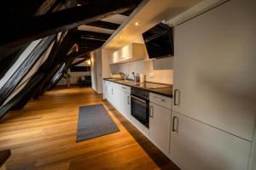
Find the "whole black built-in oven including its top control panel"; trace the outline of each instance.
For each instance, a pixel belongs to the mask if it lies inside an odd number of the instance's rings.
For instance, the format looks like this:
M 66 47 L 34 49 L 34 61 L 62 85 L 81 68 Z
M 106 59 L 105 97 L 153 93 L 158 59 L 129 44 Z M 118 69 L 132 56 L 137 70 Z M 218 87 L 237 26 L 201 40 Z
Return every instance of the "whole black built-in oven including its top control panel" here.
M 141 88 L 131 88 L 131 116 L 143 123 L 145 127 L 149 125 L 149 93 Z

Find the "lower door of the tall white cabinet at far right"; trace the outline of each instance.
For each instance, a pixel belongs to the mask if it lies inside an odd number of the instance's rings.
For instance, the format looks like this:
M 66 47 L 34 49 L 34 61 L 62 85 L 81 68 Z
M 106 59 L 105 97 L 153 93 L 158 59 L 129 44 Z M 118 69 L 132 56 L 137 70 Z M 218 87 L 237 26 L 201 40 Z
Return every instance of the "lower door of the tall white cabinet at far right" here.
M 170 158 L 183 170 L 247 169 L 250 142 L 172 111 Z

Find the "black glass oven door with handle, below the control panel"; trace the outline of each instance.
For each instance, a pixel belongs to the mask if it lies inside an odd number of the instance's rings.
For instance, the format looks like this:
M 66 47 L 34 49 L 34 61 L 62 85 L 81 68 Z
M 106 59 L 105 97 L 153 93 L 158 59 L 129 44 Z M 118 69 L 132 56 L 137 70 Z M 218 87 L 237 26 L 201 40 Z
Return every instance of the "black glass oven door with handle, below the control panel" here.
M 149 122 L 149 101 L 131 95 L 131 116 L 134 116 L 144 126 Z

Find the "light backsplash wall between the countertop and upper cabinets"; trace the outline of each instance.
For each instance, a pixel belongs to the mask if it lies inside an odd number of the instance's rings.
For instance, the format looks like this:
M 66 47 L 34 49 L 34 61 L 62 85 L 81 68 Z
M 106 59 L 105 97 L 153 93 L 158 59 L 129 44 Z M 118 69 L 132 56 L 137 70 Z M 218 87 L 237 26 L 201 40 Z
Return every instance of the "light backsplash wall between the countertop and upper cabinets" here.
M 128 73 L 133 78 L 132 72 L 146 75 L 147 82 L 160 82 L 173 84 L 173 57 L 153 60 L 138 60 L 131 63 L 111 65 L 112 73 Z M 154 78 L 149 77 L 154 73 Z

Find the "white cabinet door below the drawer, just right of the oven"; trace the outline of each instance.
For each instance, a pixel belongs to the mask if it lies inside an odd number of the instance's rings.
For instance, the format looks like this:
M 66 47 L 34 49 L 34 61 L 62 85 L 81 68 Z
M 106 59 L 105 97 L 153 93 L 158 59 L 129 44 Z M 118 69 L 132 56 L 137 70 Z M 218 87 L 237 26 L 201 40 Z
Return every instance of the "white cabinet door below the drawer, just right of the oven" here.
M 150 103 L 149 138 L 166 155 L 169 154 L 172 111 Z

